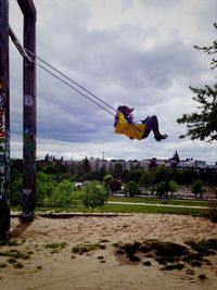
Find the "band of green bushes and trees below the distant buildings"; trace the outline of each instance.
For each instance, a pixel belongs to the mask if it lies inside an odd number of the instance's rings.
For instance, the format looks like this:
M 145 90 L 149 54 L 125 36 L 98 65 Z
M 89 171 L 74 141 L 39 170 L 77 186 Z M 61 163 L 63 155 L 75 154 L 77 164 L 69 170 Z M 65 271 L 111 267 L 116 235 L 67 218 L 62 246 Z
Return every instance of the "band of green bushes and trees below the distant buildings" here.
M 217 176 L 210 178 L 193 169 L 167 168 L 154 166 L 145 169 L 135 166 L 130 171 L 119 169 L 107 173 L 90 172 L 87 166 L 82 173 L 73 174 L 64 165 L 37 166 L 36 174 L 36 205 L 37 206 L 85 206 L 103 205 L 112 192 L 122 190 L 125 196 L 141 194 L 141 188 L 157 198 L 173 196 L 179 186 L 190 187 L 192 192 L 202 197 L 203 186 L 213 182 L 216 186 Z M 77 185 L 82 182 L 82 186 Z M 11 204 L 21 205 L 23 190 L 23 161 L 13 160 L 11 163 Z

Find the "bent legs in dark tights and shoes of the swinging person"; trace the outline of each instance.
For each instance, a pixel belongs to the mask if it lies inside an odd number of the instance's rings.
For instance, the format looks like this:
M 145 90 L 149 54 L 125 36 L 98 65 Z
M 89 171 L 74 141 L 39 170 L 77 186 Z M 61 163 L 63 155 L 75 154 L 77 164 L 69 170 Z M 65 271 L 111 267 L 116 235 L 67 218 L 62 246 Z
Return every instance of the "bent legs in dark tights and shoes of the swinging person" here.
M 161 141 L 162 139 L 166 139 L 168 137 L 167 135 L 161 135 L 159 128 L 158 128 L 158 119 L 155 115 L 148 117 L 142 123 L 145 124 L 145 130 L 144 130 L 142 138 L 146 138 L 150 135 L 151 130 L 153 130 L 154 138 L 157 141 Z

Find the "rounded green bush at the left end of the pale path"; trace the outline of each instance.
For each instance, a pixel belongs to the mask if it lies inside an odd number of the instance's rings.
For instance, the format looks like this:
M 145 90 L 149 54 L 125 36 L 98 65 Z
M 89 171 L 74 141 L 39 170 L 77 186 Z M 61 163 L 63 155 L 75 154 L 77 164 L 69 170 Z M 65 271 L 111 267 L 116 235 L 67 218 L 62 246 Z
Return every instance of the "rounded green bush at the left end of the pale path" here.
M 85 207 L 103 206 L 107 198 L 106 189 L 97 180 L 88 182 L 80 191 L 80 200 Z

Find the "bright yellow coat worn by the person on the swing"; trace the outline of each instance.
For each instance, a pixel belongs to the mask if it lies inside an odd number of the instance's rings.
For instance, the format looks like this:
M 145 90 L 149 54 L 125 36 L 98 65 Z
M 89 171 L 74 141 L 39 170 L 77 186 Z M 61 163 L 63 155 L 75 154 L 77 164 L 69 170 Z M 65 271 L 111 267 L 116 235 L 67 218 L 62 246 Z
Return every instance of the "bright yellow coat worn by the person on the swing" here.
M 115 134 L 124 134 L 131 139 L 141 140 L 144 130 L 144 124 L 128 123 L 122 112 L 117 113 L 117 124 L 115 126 Z

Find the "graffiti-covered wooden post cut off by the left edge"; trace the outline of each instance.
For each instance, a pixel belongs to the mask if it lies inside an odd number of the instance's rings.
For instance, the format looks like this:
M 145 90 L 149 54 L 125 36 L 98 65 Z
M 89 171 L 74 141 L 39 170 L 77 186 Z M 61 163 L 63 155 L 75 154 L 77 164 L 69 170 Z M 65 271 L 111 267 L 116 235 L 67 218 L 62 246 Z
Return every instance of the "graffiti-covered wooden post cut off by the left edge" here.
M 9 3 L 0 1 L 0 240 L 10 229 Z

